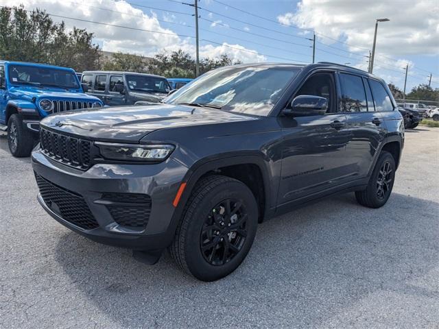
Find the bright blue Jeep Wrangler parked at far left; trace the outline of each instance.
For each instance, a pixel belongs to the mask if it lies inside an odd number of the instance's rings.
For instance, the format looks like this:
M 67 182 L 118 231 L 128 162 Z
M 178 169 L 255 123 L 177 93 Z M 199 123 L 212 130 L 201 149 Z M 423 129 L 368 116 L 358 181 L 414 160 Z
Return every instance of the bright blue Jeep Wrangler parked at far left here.
M 0 130 L 8 131 L 13 156 L 29 156 L 39 122 L 49 114 L 103 106 L 86 95 L 73 69 L 0 61 Z

